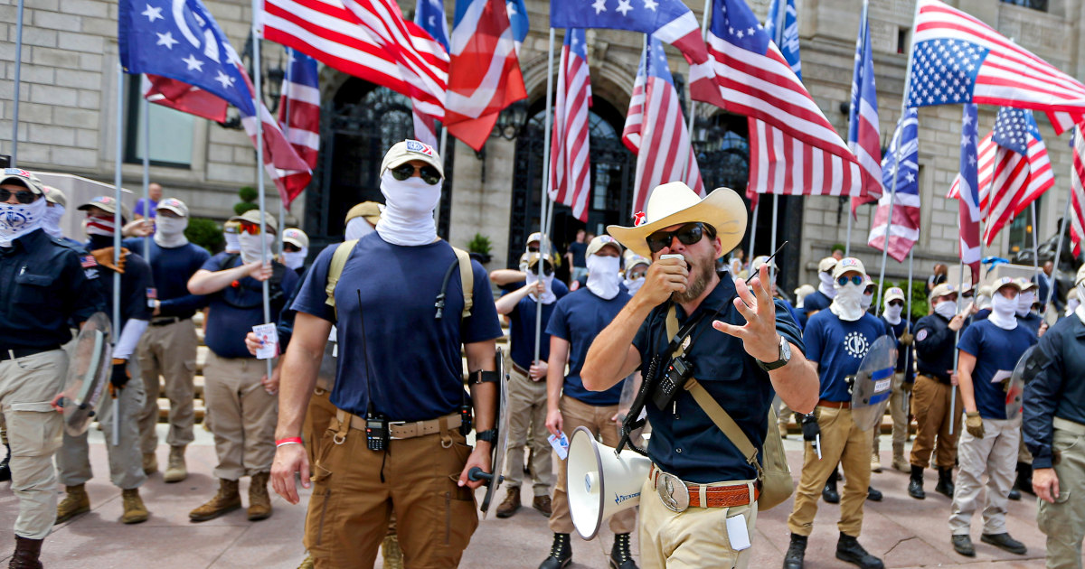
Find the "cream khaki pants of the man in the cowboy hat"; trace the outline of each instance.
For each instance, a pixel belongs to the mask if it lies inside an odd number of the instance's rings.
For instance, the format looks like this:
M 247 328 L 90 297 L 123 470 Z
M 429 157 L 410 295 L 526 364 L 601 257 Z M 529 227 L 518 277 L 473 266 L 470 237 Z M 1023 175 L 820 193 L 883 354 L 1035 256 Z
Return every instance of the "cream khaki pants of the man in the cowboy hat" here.
M 726 520 L 735 516 L 745 518 L 746 533 L 753 542 L 756 502 L 735 507 L 691 507 L 678 514 L 663 505 L 651 479 L 646 479 L 640 488 L 640 566 L 644 569 L 744 569 L 753 547 L 742 552 L 731 548 Z

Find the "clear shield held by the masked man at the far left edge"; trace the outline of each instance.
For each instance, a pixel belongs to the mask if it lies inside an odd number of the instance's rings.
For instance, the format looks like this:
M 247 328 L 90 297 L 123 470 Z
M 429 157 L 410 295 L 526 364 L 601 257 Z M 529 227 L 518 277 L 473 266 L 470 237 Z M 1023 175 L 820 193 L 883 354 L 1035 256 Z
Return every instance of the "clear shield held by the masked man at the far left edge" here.
M 113 365 L 110 318 L 97 312 L 84 323 L 76 337 L 62 392 L 64 430 L 73 437 L 87 431 L 105 399 Z

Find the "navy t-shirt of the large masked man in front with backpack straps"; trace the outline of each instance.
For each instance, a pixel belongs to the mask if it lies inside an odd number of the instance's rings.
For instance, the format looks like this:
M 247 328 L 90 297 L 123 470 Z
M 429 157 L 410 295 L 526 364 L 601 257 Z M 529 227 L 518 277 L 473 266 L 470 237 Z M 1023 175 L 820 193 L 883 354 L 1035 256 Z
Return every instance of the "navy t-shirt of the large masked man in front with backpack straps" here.
M 445 241 L 405 247 L 370 233 L 358 240 L 335 285 L 336 320 L 324 292 L 334 251 L 320 253 L 292 306 L 336 325 L 332 404 L 365 415 L 371 391 L 373 410 L 390 419 L 429 421 L 470 401 L 461 347 L 501 336 L 486 270 L 471 261 L 473 308 L 462 321 L 463 284 L 459 269 L 452 271 L 437 320 L 434 302 L 457 262 L 452 247 Z

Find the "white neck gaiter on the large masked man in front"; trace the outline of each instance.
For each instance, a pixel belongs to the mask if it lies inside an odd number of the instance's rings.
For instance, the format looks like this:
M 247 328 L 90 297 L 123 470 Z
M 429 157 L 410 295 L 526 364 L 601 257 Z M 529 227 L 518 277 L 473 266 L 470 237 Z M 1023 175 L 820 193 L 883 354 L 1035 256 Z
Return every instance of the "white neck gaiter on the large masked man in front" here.
M 384 212 L 376 222 L 376 232 L 381 238 L 406 247 L 429 245 L 437 241 L 433 209 L 441 202 L 443 183 L 444 180 L 430 185 L 417 176 L 400 182 L 391 171 L 385 171 L 381 177 Z

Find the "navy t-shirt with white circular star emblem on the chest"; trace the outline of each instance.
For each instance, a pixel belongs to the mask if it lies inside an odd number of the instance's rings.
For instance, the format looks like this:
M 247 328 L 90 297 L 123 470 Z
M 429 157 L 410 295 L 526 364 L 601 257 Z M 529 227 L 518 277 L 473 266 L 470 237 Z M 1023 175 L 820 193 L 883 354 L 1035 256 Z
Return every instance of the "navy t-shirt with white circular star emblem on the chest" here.
M 841 320 L 829 310 L 810 316 L 803 328 L 803 344 L 806 359 L 818 364 L 820 399 L 851 401 L 845 378 L 855 375 L 870 346 L 886 334 L 889 324 L 868 312 L 854 322 Z

